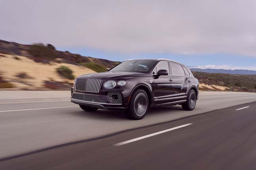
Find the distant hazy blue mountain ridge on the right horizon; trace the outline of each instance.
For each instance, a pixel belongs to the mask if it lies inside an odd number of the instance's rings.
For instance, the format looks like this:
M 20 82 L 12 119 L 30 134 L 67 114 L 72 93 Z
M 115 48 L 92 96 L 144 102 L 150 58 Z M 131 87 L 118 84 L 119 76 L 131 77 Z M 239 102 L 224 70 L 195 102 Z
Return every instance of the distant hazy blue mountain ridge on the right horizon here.
M 225 70 L 225 69 L 201 69 L 201 68 L 190 68 L 193 72 L 205 72 L 205 73 L 222 73 L 222 74 L 246 74 L 246 75 L 256 75 L 254 70 Z

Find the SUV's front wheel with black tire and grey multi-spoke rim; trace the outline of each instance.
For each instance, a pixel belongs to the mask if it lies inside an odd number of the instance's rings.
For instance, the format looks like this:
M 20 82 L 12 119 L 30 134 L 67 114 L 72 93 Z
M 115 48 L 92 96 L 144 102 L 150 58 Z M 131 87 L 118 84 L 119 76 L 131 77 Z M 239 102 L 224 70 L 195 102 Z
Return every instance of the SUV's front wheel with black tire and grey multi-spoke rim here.
M 148 95 L 142 89 L 138 89 L 131 96 L 127 116 L 133 120 L 142 119 L 148 111 L 149 100 Z

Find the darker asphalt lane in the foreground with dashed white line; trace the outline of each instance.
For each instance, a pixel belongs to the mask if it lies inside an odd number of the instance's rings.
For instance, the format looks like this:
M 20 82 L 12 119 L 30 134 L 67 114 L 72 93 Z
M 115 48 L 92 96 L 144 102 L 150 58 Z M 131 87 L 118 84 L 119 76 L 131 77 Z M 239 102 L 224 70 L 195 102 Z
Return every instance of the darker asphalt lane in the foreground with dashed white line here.
M 0 169 L 255 169 L 255 110 L 253 102 L 137 128 L 1 161 Z

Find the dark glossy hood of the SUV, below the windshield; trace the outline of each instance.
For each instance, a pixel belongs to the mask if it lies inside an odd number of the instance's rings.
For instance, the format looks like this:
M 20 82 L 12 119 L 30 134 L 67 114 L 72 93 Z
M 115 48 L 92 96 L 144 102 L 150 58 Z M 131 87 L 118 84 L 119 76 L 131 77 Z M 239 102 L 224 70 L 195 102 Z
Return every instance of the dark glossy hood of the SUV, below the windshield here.
M 92 79 L 115 79 L 119 77 L 138 77 L 143 73 L 137 72 L 103 72 L 103 73 L 91 73 L 91 74 L 84 74 L 79 77 L 84 78 L 92 78 Z

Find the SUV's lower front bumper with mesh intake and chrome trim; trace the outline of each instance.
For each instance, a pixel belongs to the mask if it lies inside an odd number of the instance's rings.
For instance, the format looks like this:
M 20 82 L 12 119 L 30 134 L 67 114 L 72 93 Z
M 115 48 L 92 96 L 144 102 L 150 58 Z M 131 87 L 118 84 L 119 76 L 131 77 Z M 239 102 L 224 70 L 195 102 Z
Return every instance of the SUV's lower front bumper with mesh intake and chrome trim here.
M 119 100 L 112 100 L 110 96 L 111 94 L 118 94 Z M 105 110 L 127 109 L 127 97 L 123 97 L 123 94 L 119 91 L 84 93 L 80 91 L 75 91 L 73 88 L 71 88 L 71 102 Z

